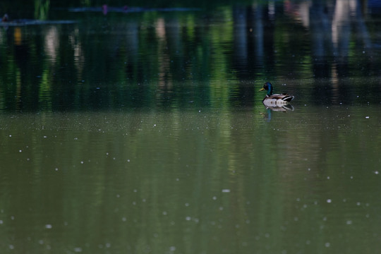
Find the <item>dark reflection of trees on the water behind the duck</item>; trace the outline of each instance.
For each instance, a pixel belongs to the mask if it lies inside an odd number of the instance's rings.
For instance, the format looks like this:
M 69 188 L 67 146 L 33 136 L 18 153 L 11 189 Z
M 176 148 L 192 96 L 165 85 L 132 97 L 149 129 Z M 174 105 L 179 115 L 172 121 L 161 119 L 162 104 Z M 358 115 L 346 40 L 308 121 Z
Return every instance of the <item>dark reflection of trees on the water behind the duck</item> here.
M 351 90 L 363 83 L 377 93 L 373 4 L 269 1 L 107 15 L 38 4 L 35 13 L 78 23 L 2 24 L 0 109 L 251 107 L 265 80 L 316 104 L 356 98 Z

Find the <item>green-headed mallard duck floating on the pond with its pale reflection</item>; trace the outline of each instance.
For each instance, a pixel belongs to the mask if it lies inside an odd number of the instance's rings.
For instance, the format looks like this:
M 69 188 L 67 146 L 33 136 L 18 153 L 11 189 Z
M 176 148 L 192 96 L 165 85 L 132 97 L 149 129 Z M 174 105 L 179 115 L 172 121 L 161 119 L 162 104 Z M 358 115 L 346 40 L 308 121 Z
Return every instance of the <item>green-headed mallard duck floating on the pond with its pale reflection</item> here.
M 287 95 L 286 93 L 273 94 L 272 89 L 270 82 L 266 82 L 260 89 L 260 91 L 267 90 L 267 95 L 262 100 L 267 109 L 272 109 L 273 111 L 294 110 L 294 107 L 289 104 L 294 99 L 294 95 Z

